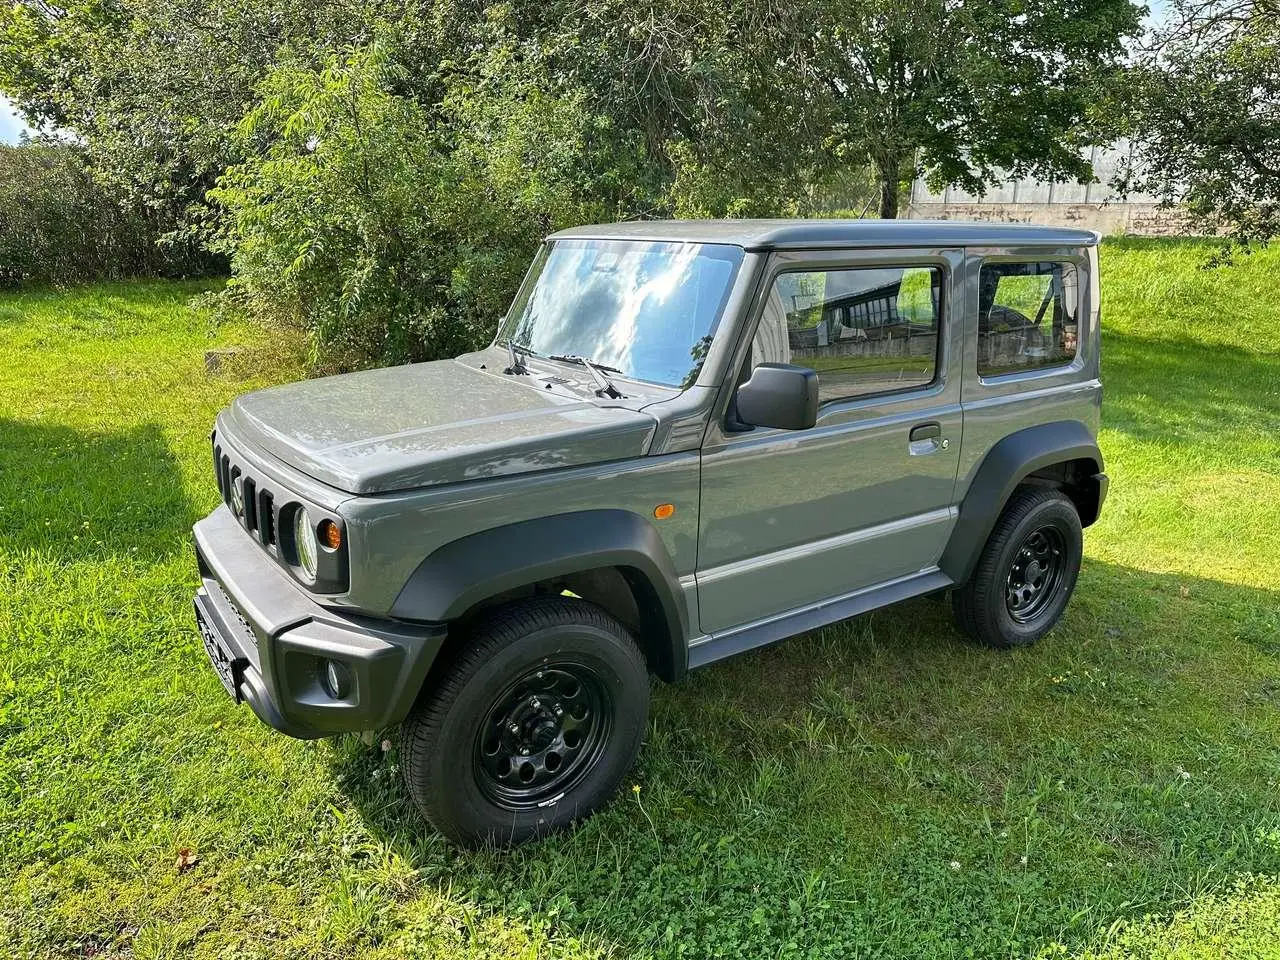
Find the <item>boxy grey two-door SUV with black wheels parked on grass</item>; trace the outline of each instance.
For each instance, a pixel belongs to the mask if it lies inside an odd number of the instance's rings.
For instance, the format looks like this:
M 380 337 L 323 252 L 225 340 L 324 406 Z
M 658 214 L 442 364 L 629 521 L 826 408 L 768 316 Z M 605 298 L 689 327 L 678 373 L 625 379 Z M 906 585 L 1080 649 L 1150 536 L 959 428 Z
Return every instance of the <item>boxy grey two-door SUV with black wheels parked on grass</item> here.
M 493 344 L 239 397 L 196 620 L 297 737 L 402 726 L 462 844 L 590 814 L 664 681 L 920 594 L 1009 648 L 1107 479 L 1093 233 L 676 221 L 547 239 Z

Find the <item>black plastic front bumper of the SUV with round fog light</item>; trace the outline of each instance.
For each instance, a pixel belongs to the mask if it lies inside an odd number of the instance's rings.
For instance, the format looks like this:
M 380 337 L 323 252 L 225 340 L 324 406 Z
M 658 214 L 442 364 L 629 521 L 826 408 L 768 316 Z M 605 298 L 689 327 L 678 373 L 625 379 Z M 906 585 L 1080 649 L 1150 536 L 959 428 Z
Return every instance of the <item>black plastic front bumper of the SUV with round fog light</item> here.
M 220 506 L 195 526 L 196 622 L 223 686 L 283 733 L 315 739 L 398 723 L 444 644 L 443 623 L 342 613 L 315 602 Z M 340 696 L 324 681 L 335 660 Z

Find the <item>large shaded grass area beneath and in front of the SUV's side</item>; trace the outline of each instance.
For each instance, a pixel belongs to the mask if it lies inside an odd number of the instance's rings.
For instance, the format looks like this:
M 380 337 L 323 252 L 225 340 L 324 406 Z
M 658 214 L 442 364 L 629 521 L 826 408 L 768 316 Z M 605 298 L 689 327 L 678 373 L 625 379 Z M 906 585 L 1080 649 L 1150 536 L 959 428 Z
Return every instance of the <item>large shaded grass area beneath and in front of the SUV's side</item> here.
M 620 955 L 1080 948 L 1280 872 L 1277 634 L 1275 591 L 1093 561 L 1028 650 L 914 600 L 655 685 L 620 796 L 509 852 L 451 850 L 394 749 L 329 756 L 436 895 Z

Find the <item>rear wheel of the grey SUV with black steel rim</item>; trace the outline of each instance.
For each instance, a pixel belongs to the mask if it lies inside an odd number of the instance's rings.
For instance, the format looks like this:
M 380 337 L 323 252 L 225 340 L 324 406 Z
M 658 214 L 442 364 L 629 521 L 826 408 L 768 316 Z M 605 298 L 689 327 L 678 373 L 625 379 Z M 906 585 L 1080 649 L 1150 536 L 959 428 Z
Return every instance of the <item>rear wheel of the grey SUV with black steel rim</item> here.
M 1060 490 L 1019 488 L 969 581 L 952 591 L 956 625 L 986 646 L 1029 646 L 1052 630 L 1080 573 L 1083 535 Z

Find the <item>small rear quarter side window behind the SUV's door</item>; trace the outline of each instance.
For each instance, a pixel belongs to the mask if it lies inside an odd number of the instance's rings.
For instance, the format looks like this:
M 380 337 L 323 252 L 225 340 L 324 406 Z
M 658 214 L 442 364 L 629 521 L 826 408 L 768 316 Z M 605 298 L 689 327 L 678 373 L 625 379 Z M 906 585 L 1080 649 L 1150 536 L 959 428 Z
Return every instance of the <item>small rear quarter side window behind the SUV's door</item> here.
M 986 264 L 979 273 L 978 372 L 1016 374 L 1075 358 L 1076 270 L 1070 264 Z

